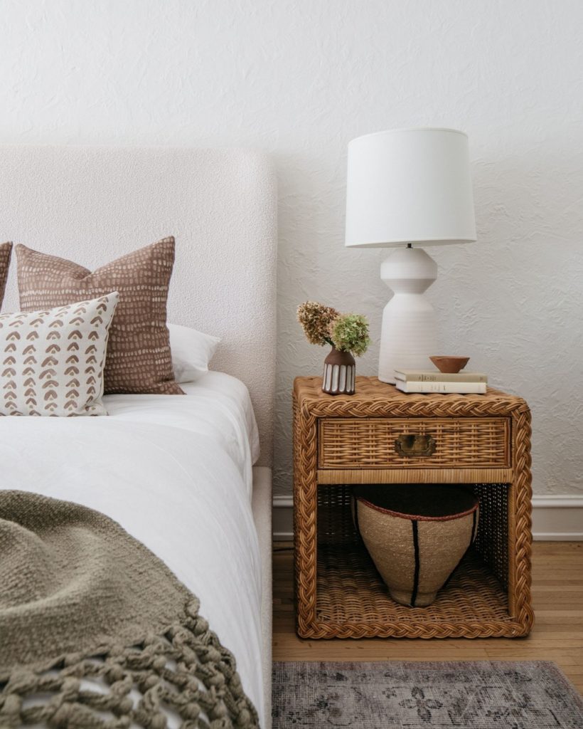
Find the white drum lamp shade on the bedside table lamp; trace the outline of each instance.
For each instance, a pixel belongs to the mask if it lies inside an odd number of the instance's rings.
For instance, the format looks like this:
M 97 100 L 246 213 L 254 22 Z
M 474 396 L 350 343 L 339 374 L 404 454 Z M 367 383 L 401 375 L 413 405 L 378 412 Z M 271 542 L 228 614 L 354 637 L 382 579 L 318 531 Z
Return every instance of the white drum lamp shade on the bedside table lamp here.
M 396 129 L 348 146 L 346 246 L 476 240 L 467 136 Z

